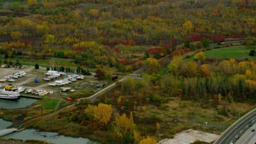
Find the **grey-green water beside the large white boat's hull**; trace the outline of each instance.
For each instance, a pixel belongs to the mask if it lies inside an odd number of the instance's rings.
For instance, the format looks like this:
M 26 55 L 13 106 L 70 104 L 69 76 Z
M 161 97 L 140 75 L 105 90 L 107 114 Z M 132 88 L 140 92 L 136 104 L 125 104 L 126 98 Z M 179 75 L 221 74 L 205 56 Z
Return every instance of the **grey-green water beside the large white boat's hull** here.
M 22 98 L 18 100 L 4 100 L 0 99 L 0 108 L 7 108 L 7 109 L 16 109 L 16 108 L 24 108 L 34 102 L 38 101 L 38 99 L 34 98 Z

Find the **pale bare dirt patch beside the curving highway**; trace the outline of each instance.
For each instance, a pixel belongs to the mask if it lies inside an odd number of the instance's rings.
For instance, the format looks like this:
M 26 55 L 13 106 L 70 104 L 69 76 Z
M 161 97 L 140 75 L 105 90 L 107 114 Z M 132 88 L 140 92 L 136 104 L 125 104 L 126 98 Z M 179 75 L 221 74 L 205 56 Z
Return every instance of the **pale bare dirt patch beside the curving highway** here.
M 176 136 L 173 139 L 162 140 L 161 144 L 184 144 L 184 143 L 190 144 L 196 140 L 210 143 L 216 140 L 218 137 L 219 135 L 216 135 L 216 134 L 210 134 L 210 133 L 190 129 L 190 130 L 184 130 L 183 132 L 176 134 Z

